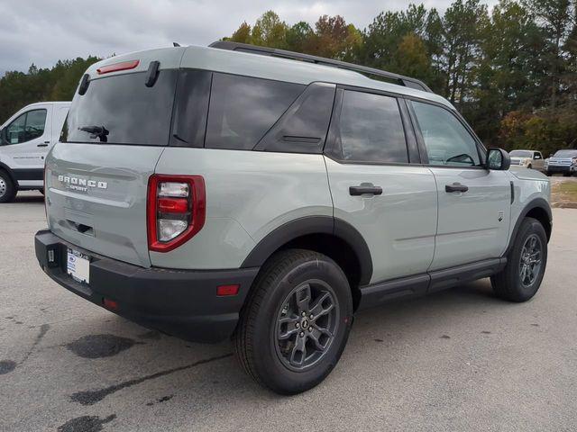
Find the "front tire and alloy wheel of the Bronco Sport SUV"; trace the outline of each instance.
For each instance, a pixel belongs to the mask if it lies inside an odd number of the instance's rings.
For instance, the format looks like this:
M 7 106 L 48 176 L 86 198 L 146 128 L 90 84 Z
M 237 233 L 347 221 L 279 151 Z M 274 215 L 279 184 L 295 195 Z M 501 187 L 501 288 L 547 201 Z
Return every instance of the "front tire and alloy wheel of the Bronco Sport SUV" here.
M 536 249 L 532 251 L 531 245 L 533 244 L 536 245 Z M 538 254 L 535 252 L 537 249 Z M 538 264 L 535 262 L 536 259 L 539 260 Z M 546 265 L 545 229 L 538 220 L 525 218 L 521 222 L 513 247 L 508 253 L 507 266 L 499 274 L 490 278 L 493 291 L 501 299 L 509 302 L 527 302 L 541 286 Z

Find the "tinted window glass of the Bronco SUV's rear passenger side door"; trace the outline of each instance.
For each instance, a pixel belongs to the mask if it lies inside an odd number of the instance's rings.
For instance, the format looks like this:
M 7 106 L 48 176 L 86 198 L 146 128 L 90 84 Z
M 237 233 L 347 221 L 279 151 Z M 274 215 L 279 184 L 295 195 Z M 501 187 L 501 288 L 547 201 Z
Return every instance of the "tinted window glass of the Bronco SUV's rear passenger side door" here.
M 408 163 L 396 98 L 345 90 L 337 127 L 336 157 L 356 162 Z

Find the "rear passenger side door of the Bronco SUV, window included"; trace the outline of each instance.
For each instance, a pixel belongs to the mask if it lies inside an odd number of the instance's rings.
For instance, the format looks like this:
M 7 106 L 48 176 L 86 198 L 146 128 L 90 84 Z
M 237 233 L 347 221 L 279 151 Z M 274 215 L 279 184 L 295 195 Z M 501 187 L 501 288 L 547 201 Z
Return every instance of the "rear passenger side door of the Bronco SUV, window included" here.
M 325 161 L 334 217 L 353 225 L 371 250 L 371 283 L 425 273 L 437 193 L 434 175 L 419 165 L 404 101 L 337 89 Z

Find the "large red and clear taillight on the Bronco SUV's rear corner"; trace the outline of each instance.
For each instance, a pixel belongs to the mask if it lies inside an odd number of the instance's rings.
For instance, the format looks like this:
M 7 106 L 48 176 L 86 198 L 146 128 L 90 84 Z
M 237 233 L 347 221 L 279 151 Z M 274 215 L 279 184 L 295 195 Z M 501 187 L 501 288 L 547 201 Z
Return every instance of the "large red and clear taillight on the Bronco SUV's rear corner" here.
M 179 247 L 205 224 L 204 178 L 201 175 L 151 175 L 147 211 L 149 249 L 168 252 Z

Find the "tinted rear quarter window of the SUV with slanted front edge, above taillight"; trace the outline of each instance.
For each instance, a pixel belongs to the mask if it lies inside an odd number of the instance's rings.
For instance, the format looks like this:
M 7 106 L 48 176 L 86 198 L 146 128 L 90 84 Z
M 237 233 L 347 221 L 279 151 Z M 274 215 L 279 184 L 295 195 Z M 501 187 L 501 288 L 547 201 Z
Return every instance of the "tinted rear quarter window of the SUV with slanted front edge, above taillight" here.
M 304 88 L 305 85 L 215 73 L 205 147 L 254 148 Z

